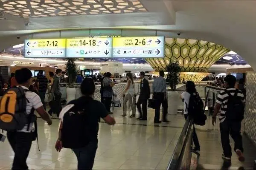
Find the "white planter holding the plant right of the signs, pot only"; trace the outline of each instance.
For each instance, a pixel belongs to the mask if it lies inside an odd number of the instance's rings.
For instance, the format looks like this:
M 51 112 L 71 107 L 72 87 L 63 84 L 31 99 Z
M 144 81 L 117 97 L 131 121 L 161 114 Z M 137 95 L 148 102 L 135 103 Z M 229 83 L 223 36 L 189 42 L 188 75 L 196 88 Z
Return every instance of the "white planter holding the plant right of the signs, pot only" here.
M 179 93 L 177 91 L 168 91 L 168 114 L 176 115 L 178 112 Z

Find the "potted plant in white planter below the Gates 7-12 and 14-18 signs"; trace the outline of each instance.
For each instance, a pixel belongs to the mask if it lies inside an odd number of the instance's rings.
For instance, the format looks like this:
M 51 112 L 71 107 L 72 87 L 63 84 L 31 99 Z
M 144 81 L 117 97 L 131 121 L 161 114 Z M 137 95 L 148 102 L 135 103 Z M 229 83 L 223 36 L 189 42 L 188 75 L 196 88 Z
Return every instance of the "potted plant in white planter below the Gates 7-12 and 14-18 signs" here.
M 67 65 L 65 68 L 67 72 L 67 103 L 71 100 L 76 99 L 76 88 L 74 82 L 76 81 L 77 69 L 75 59 L 69 58 L 67 59 Z

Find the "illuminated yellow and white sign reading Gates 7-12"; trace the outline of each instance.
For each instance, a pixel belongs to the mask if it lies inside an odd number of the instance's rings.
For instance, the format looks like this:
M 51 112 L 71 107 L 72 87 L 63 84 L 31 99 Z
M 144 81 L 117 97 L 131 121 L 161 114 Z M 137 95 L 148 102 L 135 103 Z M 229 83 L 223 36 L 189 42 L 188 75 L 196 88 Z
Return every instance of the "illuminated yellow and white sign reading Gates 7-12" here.
M 25 57 L 66 57 L 66 39 L 25 40 Z

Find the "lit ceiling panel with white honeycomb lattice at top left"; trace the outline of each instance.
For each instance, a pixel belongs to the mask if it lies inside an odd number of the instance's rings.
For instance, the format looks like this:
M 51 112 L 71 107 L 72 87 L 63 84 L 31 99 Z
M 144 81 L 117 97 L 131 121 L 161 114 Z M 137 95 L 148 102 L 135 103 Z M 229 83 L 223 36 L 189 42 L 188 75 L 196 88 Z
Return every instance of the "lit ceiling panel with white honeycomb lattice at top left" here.
M 0 11 L 21 18 L 147 11 L 140 0 L 0 0 Z

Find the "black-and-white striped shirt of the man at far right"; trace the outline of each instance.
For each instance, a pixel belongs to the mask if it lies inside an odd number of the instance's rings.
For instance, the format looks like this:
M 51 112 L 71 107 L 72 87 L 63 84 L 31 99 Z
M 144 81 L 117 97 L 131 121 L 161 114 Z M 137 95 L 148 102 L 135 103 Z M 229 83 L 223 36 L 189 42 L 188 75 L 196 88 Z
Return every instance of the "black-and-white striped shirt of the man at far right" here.
M 218 94 L 218 98 L 216 102 L 221 105 L 221 115 L 219 116 L 220 123 L 224 122 L 224 120 L 226 119 L 225 112 L 227 111 L 227 103 L 228 103 L 227 91 L 229 91 L 230 94 L 234 96 L 236 92 L 236 88 L 227 88 L 224 91 L 220 91 L 220 93 Z M 242 102 L 245 102 L 244 94 L 240 90 L 238 91 L 237 96 L 241 98 Z

